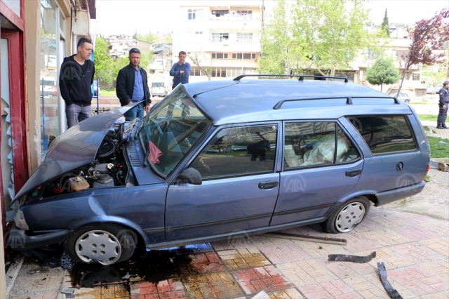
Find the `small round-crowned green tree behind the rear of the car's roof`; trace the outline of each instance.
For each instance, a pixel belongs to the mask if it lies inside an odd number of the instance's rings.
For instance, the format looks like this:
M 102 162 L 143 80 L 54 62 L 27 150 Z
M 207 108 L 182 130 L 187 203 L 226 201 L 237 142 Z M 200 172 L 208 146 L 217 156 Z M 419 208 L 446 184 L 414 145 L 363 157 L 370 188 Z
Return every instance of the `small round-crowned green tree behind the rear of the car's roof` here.
M 393 65 L 389 58 L 379 58 L 366 72 L 366 80 L 373 85 L 380 85 L 380 91 L 384 84 L 395 84 L 401 79 L 401 72 Z

